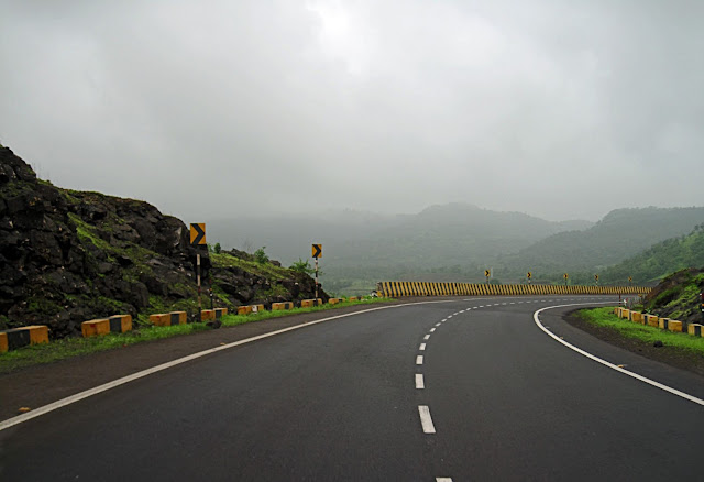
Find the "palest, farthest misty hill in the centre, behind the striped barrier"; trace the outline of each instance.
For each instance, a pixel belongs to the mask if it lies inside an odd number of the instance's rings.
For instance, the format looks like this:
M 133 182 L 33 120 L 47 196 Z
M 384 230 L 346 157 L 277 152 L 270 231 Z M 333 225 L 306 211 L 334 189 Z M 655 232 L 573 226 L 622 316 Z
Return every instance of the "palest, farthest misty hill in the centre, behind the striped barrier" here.
M 551 222 L 521 212 L 498 212 L 468 204 L 432 206 L 416 215 L 343 211 L 308 217 L 208 221 L 211 242 L 242 249 L 266 247 L 285 263 L 310 256 L 322 243 L 323 283 L 330 289 L 384 278 L 416 276 L 480 280 L 487 264 L 532 242 L 588 221 Z M 480 269 L 481 266 L 481 269 Z

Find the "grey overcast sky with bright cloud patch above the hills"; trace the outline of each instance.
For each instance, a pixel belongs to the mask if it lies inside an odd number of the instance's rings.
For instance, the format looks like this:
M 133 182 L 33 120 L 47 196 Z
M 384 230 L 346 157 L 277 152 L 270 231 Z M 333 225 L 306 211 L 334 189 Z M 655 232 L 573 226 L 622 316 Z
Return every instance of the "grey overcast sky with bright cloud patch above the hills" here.
M 0 142 L 185 222 L 701 206 L 703 19 L 697 0 L 0 0 Z

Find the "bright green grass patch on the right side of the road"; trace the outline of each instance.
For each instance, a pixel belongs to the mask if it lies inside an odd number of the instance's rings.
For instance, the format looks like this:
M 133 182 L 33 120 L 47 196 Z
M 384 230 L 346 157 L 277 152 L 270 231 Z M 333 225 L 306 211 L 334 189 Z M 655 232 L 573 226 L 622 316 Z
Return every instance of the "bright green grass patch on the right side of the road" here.
M 703 337 L 693 337 L 688 333 L 674 333 L 672 331 L 661 330 L 660 328 L 628 321 L 627 319 L 618 318 L 614 314 L 613 307 L 582 309 L 578 315 L 592 325 L 612 328 L 627 338 L 635 338 L 645 341 L 646 343 L 652 343 L 656 340 L 660 340 L 667 347 L 678 347 L 704 355 Z

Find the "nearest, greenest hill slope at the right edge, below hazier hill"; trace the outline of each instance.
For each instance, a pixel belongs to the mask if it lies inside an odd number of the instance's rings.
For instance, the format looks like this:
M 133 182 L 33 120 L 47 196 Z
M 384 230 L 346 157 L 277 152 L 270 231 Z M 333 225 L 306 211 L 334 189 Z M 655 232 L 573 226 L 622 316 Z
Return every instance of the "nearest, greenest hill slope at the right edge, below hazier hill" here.
M 604 271 L 605 283 L 625 283 L 632 276 L 636 284 L 658 282 L 675 271 L 704 269 L 704 224 L 691 233 L 670 238 Z

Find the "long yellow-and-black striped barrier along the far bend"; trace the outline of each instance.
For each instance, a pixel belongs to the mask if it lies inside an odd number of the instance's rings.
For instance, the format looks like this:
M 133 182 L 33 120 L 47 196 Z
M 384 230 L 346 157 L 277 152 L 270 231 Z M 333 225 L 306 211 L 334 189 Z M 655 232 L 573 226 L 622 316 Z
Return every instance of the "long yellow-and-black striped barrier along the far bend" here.
M 491 285 L 485 283 L 380 282 L 380 296 L 497 296 L 497 295 L 645 295 L 644 286 L 579 286 L 579 285 Z

